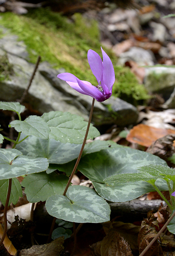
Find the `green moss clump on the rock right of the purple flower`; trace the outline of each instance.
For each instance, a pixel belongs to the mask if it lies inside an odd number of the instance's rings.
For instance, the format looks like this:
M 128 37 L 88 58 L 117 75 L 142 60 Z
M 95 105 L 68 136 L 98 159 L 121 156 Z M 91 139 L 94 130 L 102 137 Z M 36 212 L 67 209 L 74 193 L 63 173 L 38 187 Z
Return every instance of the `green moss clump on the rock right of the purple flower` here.
M 136 76 L 127 67 L 115 66 L 117 82 L 113 85 L 113 95 L 120 97 L 134 106 L 143 104 L 143 101 L 150 98 L 143 85 L 138 83 Z

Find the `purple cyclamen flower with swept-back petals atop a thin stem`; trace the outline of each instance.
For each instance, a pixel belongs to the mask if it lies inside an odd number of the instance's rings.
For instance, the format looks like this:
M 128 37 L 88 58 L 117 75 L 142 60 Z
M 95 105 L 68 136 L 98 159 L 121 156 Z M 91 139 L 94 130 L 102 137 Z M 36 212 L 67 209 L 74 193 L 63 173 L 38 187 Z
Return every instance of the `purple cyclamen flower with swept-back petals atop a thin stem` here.
M 95 51 L 89 50 L 87 53 L 90 69 L 98 82 L 96 87 L 90 82 L 80 80 L 70 73 L 62 73 L 57 75 L 57 77 L 66 81 L 66 83 L 74 88 L 74 90 L 82 94 L 89 95 L 97 101 L 105 101 L 109 99 L 112 94 L 112 86 L 115 82 L 115 73 L 111 59 L 102 48 L 101 52 L 103 55 L 103 61 Z

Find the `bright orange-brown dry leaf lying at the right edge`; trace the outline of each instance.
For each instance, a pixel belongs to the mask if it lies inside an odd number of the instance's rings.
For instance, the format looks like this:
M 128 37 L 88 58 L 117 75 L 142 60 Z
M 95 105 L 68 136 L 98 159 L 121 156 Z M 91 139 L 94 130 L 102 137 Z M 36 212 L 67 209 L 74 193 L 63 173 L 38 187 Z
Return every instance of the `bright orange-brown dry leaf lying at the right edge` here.
M 157 139 L 162 138 L 168 134 L 175 134 L 175 130 L 160 129 L 145 124 L 138 124 L 130 130 L 126 139 L 129 142 L 149 147 Z

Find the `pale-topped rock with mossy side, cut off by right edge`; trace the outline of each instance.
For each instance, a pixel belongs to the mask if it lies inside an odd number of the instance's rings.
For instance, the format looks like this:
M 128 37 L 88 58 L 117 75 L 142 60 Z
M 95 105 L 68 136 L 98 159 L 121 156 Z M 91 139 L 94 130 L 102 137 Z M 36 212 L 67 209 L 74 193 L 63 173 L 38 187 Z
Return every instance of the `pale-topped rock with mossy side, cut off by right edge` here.
M 149 92 L 163 94 L 165 100 L 175 87 L 175 68 L 173 67 L 148 67 L 145 68 L 144 85 Z

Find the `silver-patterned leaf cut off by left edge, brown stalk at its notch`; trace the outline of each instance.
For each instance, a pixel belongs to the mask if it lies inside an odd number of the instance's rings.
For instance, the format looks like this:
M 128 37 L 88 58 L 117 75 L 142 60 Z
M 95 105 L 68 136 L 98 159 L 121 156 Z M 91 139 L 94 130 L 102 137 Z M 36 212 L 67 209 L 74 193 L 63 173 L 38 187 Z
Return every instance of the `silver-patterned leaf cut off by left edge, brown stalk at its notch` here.
M 46 171 L 46 158 L 33 158 L 17 149 L 0 149 L 0 180 L 19 177 L 21 175 Z

